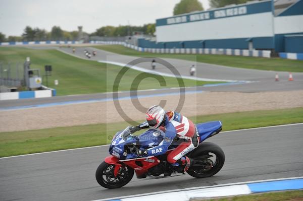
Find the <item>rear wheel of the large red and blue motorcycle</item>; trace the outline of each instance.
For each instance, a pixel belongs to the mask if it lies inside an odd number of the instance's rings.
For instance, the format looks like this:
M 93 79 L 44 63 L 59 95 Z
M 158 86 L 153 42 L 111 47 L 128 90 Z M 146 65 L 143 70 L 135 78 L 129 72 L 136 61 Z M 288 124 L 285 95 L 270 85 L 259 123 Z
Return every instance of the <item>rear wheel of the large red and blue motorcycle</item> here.
M 205 158 L 203 156 L 206 156 Z M 207 157 L 213 156 L 213 157 Z M 198 159 L 205 167 L 195 168 L 194 165 L 187 170 L 190 176 L 195 178 L 211 177 L 218 173 L 224 165 L 225 155 L 223 150 L 214 143 L 200 143 L 199 146 L 189 155 L 192 159 Z

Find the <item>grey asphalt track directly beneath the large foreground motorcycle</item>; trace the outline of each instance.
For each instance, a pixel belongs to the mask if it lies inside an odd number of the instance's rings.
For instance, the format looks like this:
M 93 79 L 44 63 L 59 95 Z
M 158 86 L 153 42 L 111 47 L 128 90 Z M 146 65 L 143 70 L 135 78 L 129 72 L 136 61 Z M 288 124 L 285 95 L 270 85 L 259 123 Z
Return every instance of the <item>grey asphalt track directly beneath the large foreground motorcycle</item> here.
M 224 126 L 224 125 L 223 125 Z M 303 175 L 303 124 L 222 132 L 208 141 L 225 152 L 215 176 L 134 178 L 105 189 L 94 178 L 108 146 L 0 159 L 0 200 L 94 200 L 147 192 Z

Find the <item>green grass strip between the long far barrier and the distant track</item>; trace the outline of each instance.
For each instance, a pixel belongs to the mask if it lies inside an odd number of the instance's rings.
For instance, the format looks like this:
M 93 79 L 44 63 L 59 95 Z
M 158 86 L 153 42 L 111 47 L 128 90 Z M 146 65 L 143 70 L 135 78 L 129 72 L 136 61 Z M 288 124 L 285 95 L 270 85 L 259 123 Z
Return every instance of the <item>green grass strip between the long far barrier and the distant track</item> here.
M 136 50 L 124 47 L 122 45 L 100 45 L 93 46 L 110 52 L 124 55 L 157 55 L 159 57 L 176 58 L 176 55 L 182 55 L 180 59 L 192 60 L 196 56 L 197 62 L 213 63 L 244 69 L 258 69 L 266 71 L 286 71 L 303 72 L 303 60 L 291 60 L 283 58 L 262 58 L 250 56 L 231 56 L 231 55 L 212 55 L 212 54 L 156 54 L 149 52 L 138 52 Z M 195 61 L 195 60 L 194 60 Z

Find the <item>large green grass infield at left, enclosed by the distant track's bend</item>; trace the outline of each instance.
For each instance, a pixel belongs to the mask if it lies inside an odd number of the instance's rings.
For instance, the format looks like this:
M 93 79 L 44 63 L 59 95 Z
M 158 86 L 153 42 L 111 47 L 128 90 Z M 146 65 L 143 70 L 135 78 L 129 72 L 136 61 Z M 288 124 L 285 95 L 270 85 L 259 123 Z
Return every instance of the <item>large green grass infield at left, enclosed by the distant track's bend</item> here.
M 54 49 L 0 47 L 0 61 L 12 62 L 12 69 L 17 62 L 21 63 L 20 70 L 23 69 L 23 62 L 27 56 L 31 58 L 31 69 L 40 69 L 42 76 L 44 75 L 44 65 L 53 66 L 52 76 L 49 77 L 48 83 L 49 87 L 57 90 L 58 95 L 110 92 L 116 76 L 122 69 L 120 66 L 80 59 Z M 20 75 L 22 75 L 21 73 L 20 71 Z M 159 83 L 156 79 L 162 78 L 161 76 L 129 69 L 120 82 L 119 91 L 131 90 L 134 78 L 139 75 L 149 77 L 143 79 L 142 82 L 134 82 L 138 85 L 139 90 L 179 87 L 175 78 L 163 77 L 164 79 Z M 54 85 L 54 80 L 59 80 L 58 86 Z M 187 79 L 183 81 L 186 87 L 218 83 Z M 43 82 L 43 85 L 46 83 Z

